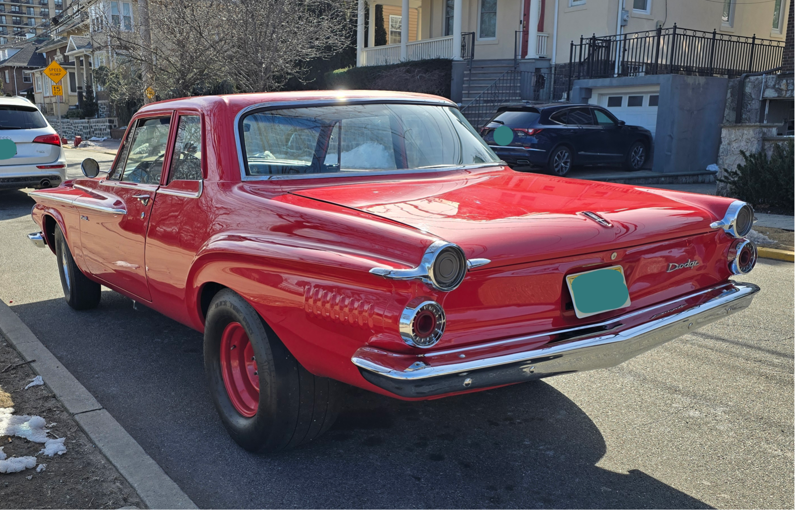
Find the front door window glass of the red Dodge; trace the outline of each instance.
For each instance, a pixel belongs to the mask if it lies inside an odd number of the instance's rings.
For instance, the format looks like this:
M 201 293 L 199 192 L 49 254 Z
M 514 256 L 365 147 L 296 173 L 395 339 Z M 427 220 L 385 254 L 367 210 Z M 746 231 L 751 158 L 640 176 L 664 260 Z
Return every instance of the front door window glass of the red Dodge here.
M 140 184 L 160 183 L 170 122 L 171 117 L 140 119 L 128 137 L 129 142 L 125 142 L 123 157 L 119 158 L 114 169 L 114 178 Z

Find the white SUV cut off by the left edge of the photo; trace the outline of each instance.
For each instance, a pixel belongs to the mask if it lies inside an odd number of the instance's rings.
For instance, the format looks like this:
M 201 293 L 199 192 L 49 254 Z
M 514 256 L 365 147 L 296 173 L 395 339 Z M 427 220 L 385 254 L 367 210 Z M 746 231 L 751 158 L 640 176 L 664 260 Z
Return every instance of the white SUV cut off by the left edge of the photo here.
M 28 100 L 0 97 L 0 189 L 53 188 L 65 180 L 56 130 Z

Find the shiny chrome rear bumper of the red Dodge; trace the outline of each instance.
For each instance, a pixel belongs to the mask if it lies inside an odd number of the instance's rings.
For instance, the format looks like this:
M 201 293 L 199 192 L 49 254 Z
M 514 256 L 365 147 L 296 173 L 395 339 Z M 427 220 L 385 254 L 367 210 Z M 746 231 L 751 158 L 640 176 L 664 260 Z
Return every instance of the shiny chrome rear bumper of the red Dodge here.
M 731 281 L 596 325 L 417 356 L 362 347 L 351 361 L 365 380 L 408 398 L 610 368 L 747 308 L 759 290 L 751 283 Z M 544 337 L 550 342 L 538 347 Z M 558 338 L 566 340 L 556 342 Z M 537 347 L 517 352 L 518 345 L 529 341 L 537 341 Z M 493 355 L 479 354 L 486 351 Z

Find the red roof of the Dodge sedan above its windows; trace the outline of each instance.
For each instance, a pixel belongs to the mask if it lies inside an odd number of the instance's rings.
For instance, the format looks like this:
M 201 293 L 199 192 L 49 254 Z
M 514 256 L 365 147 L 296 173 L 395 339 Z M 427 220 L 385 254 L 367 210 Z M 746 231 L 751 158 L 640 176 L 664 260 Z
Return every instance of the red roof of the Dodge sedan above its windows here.
M 346 100 L 375 100 L 396 102 L 421 102 L 456 106 L 451 99 L 439 95 L 416 94 L 413 92 L 394 91 L 291 91 L 291 92 L 256 92 L 252 94 L 228 95 L 197 95 L 179 99 L 166 99 L 157 103 L 150 103 L 142 107 L 139 113 L 147 111 L 162 111 L 163 109 L 199 108 L 202 110 L 226 106 L 233 111 L 240 111 L 261 103 L 311 103 L 315 101 L 330 101 L 345 103 Z

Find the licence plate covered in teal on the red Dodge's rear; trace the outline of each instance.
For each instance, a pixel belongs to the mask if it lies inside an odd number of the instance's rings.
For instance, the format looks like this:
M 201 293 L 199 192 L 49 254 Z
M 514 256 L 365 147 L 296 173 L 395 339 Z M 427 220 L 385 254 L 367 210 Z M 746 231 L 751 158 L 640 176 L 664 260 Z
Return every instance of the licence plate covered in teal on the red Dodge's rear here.
M 569 274 L 567 286 L 579 319 L 630 306 L 622 266 Z

